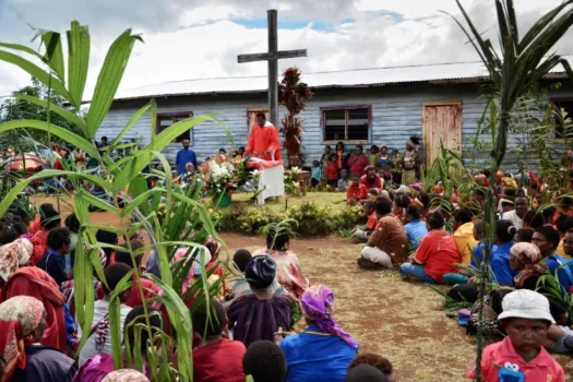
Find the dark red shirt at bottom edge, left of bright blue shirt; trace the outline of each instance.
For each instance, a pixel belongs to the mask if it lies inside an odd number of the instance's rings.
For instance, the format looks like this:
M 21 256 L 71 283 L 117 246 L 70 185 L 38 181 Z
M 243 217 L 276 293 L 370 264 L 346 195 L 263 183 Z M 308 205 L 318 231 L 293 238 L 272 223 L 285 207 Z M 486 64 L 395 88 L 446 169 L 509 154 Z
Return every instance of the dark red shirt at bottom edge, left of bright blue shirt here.
M 223 338 L 193 350 L 193 381 L 244 382 L 241 342 Z

